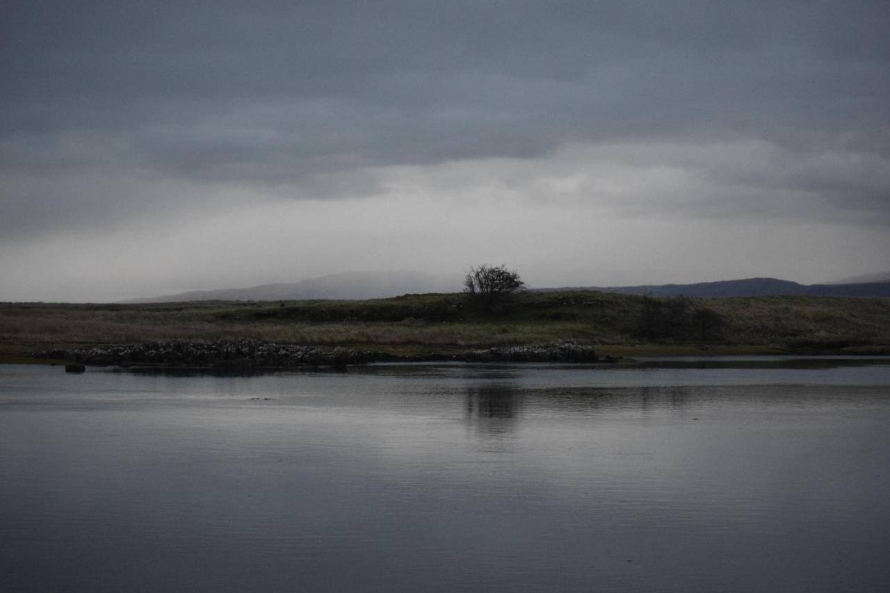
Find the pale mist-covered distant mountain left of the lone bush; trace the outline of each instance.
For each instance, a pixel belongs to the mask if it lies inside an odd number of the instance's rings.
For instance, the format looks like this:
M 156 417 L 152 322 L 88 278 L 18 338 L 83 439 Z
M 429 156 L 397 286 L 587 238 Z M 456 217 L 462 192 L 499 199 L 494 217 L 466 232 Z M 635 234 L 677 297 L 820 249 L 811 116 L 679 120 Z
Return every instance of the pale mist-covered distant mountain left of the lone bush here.
M 135 298 L 127 303 L 175 303 L 182 301 L 286 301 L 311 298 L 385 298 L 427 292 L 458 292 L 463 277 L 425 272 L 343 272 L 289 284 L 263 284 L 249 288 L 192 290 L 176 295 Z

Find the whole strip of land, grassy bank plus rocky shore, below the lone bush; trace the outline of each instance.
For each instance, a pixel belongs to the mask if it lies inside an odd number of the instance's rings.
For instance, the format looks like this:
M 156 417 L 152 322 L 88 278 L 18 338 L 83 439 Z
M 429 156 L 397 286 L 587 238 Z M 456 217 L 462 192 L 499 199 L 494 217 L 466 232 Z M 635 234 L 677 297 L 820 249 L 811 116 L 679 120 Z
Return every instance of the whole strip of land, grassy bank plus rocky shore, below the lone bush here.
M 0 304 L 0 361 L 262 367 L 614 362 L 643 355 L 890 354 L 890 298 L 589 290 L 368 300 Z

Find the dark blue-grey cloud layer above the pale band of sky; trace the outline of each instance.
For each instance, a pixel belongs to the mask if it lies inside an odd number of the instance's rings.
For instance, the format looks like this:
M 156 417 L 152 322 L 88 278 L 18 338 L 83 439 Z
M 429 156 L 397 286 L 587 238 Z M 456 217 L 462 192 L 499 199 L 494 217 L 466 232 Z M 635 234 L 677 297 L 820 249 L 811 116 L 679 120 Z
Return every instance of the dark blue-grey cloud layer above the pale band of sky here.
M 886 221 L 887 22 L 884 0 L 6 3 L 0 231 L 646 142 L 779 155 L 691 150 L 716 212 L 774 191 Z

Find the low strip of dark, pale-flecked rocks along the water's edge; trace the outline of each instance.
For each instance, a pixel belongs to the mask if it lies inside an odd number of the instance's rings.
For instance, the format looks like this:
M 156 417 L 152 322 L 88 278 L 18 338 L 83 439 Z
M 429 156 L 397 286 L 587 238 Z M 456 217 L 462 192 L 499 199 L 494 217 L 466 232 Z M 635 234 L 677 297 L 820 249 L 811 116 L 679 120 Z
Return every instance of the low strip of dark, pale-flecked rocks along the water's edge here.
M 398 357 L 391 353 L 349 347 L 319 347 L 275 344 L 256 340 L 214 342 L 146 342 L 138 345 L 53 349 L 33 353 L 36 358 L 54 359 L 93 366 L 246 366 L 290 368 L 300 366 L 345 366 L 384 361 L 468 362 L 611 362 L 596 355 L 593 346 L 566 341 L 551 345 L 514 345 L 473 350 L 459 354 L 430 353 Z

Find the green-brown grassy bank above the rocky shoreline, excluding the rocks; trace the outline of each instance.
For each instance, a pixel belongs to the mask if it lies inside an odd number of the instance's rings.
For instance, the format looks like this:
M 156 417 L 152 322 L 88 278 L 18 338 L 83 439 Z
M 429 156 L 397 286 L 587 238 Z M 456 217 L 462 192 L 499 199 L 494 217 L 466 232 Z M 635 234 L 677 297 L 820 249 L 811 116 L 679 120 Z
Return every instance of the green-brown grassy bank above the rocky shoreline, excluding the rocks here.
M 405 356 L 562 339 L 613 355 L 890 353 L 887 298 L 683 301 L 529 292 L 515 295 L 499 313 L 486 313 L 459 294 L 366 301 L 0 304 L 0 355 L 10 361 L 52 347 L 245 337 Z

